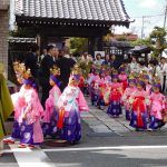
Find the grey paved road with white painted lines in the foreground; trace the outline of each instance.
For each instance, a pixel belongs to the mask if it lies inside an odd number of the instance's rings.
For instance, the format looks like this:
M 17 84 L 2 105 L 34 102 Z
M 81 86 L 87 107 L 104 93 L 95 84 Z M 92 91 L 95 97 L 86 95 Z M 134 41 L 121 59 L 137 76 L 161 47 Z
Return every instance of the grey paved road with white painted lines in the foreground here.
M 109 118 L 90 107 L 82 114 L 82 139 L 76 146 L 46 140 L 36 149 L 6 146 L 0 167 L 167 167 L 167 130 L 136 132 L 124 117 Z

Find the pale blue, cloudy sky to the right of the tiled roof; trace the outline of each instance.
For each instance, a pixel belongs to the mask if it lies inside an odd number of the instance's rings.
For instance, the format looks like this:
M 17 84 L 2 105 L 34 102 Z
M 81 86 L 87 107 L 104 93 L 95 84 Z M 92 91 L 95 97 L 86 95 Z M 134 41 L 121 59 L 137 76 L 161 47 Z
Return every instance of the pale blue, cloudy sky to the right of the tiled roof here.
M 141 36 L 143 16 L 144 18 L 144 36 L 148 37 L 155 26 L 164 26 L 165 6 L 167 0 L 122 0 L 125 8 L 131 20 L 135 22 L 130 24 L 129 29 L 116 27 L 116 33 L 130 32 Z M 153 16 L 153 17 L 151 17 Z M 166 23 L 167 28 L 167 23 Z

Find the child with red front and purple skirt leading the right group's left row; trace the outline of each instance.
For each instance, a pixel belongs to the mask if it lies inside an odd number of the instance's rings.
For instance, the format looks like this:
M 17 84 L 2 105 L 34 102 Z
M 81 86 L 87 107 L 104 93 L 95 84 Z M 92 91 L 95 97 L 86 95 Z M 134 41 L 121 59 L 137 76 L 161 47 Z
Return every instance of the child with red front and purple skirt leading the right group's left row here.
M 122 85 L 118 82 L 118 76 L 112 75 L 112 82 L 109 85 L 110 87 L 110 99 L 109 107 L 107 109 L 107 114 L 114 118 L 119 117 L 121 115 L 121 96 L 122 96 Z

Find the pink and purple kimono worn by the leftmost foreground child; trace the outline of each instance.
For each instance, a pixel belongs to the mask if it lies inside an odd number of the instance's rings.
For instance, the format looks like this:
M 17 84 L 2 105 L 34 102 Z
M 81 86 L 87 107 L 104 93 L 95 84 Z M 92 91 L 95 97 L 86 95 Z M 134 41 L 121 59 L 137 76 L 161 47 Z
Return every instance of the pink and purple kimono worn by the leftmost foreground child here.
M 21 144 L 36 145 L 43 141 L 40 118 L 43 108 L 40 104 L 37 90 L 32 87 L 26 89 L 24 85 L 20 91 L 11 96 L 14 106 L 14 122 L 12 139 L 20 139 Z M 26 115 L 26 117 L 24 117 Z

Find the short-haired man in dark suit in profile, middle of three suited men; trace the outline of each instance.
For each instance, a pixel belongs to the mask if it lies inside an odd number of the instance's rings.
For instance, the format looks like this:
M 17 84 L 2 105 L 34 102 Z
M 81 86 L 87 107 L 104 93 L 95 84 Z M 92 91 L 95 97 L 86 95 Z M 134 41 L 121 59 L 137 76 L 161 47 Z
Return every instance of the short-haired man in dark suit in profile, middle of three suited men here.
M 48 46 L 47 48 L 47 56 L 41 61 L 41 73 L 40 73 L 40 85 L 42 87 L 42 98 L 41 104 L 45 108 L 45 104 L 47 98 L 49 97 L 49 90 L 51 89 L 51 86 L 49 84 L 49 77 L 50 77 L 50 68 L 53 67 L 53 55 L 55 55 L 56 48 L 53 46 Z

